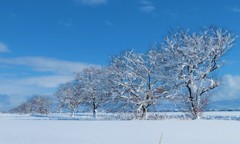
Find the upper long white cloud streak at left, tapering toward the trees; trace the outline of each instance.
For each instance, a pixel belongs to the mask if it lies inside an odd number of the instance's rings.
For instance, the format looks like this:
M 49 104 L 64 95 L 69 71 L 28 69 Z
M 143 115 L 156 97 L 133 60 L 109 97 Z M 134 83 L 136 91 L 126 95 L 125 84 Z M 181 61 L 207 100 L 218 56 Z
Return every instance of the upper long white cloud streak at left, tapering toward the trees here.
M 56 74 L 72 74 L 89 66 L 96 66 L 87 63 L 64 61 L 46 57 L 0 58 L 0 63 L 27 66 L 36 71 L 52 72 Z

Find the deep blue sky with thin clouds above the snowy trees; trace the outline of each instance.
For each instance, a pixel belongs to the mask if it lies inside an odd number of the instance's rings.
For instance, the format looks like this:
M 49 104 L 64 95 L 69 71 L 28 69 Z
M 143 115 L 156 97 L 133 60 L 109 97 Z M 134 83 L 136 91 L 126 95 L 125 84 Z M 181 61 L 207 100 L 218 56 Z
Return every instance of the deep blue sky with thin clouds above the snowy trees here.
M 0 97 L 14 105 L 54 92 L 73 72 L 107 65 L 122 50 L 144 52 L 178 26 L 215 25 L 240 35 L 240 2 L 1 0 L 0 20 Z M 221 99 L 239 98 L 239 45 L 225 56 Z

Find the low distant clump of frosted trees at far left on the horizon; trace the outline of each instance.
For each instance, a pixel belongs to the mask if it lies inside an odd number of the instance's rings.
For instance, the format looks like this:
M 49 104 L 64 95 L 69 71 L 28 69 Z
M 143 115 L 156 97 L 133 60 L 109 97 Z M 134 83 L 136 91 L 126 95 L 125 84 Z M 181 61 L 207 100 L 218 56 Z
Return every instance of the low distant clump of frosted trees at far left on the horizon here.
M 18 107 L 10 110 L 10 112 L 22 114 L 49 114 L 51 112 L 51 99 L 47 96 L 35 95 Z

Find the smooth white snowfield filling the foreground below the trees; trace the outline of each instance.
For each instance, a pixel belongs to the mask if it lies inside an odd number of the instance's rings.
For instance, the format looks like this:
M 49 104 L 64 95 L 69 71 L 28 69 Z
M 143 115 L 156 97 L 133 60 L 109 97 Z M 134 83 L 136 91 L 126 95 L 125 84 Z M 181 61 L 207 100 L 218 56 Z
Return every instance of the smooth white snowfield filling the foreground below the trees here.
M 0 144 L 240 144 L 240 121 L 40 120 L 0 114 Z

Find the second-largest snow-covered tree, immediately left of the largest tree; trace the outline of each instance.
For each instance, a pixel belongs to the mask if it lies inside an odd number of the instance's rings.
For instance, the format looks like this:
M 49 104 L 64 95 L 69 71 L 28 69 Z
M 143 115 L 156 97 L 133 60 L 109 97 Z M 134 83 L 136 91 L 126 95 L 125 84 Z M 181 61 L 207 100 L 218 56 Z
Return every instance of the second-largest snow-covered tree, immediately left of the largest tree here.
M 109 72 L 114 83 L 115 99 L 131 106 L 140 118 L 164 93 L 161 67 L 156 65 L 152 52 L 147 54 L 126 51 L 112 58 Z

